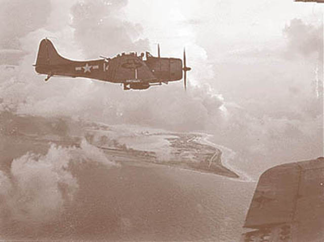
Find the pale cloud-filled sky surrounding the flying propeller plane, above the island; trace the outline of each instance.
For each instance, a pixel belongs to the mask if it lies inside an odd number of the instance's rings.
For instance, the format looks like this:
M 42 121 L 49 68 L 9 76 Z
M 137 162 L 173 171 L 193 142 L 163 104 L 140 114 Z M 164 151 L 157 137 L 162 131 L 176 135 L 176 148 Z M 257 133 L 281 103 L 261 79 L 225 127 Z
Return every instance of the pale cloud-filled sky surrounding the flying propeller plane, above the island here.
M 257 176 L 289 161 L 323 156 L 322 18 L 319 4 L 292 0 L 1 0 L 0 109 L 109 124 L 203 131 L 236 152 Z M 48 37 L 70 59 L 150 51 L 182 57 L 189 88 L 145 91 L 87 79 L 52 78 L 32 68 Z M 7 53 L 6 55 L 2 53 Z M 17 54 L 18 53 L 18 54 Z M 20 53 L 20 54 L 19 54 Z M 20 55 L 18 58 L 17 55 Z

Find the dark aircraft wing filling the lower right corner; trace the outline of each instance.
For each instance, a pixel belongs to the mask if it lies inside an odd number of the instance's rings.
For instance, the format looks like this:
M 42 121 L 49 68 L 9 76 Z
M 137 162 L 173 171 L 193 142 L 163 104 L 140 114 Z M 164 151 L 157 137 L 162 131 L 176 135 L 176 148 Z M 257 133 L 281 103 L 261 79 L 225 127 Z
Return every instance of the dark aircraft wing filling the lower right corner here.
M 324 157 L 274 166 L 260 176 L 240 241 L 324 241 Z

